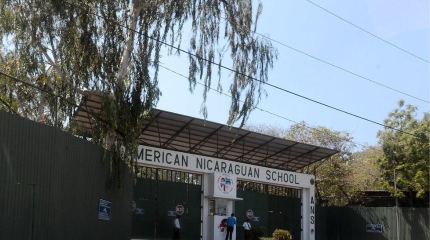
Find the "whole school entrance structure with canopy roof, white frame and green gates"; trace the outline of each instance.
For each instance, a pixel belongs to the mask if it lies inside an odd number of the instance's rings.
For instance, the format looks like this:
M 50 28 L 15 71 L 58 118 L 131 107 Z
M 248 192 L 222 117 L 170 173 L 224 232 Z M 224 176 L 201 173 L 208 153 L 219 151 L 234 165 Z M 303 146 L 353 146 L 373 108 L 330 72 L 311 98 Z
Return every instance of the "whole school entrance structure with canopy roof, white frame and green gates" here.
M 92 130 L 95 119 L 81 109 L 101 112 L 101 98 L 88 96 L 76 113 Z M 139 142 L 133 237 L 171 239 L 174 217 L 182 213 L 182 238 L 212 239 L 222 232 L 218 221 L 234 212 L 239 225 L 252 214 L 251 225 L 265 236 L 282 228 L 294 239 L 315 239 L 314 176 L 296 170 L 336 150 L 159 109 L 142 124 Z M 212 194 L 219 174 L 235 179 L 235 195 Z M 235 227 L 237 239 L 241 231 Z

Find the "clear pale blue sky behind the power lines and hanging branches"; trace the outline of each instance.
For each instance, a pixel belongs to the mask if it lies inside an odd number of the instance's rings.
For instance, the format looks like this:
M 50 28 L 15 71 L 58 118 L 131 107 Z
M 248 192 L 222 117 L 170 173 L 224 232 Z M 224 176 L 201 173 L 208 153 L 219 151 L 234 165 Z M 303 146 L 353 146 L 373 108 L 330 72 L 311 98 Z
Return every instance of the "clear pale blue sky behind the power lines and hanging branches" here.
M 327 10 L 429 60 L 428 0 L 312 0 Z M 257 32 L 306 52 L 351 72 L 429 100 L 429 63 L 413 57 L 344 22 L 306 0 L 263 1 Z M 187 35 L 185 32 L 184 35 Z M 429 110 L 429 104 L 334 68 L 288 47 L 273 42 L 278 60 L 269 73 L 269 83 L 312 98 L 333 107 L 382 123 L 399 99 Z M 185 46 L 185 44 L 182 44 Z M 163 56 L 163 65 L 187 75 L 184 54 Z M 228 62 L 228 60 L 225 60 Z M 228 66 L 228 65 L 227 65 Z M 186 78 L 160 68 L 162 96 L 156 108 L 202 118 L 199 113 L 202 87 L 188 91 Z M 222 81 L 229 83 L 229 72 Z M 216 87 L 216 84 L 213 84 Z M 289 93 L 265 86 L 268 96 L 259 108 L 293 121 L 306 121 L 351 133 L 354 141 L 375 144 L 381 126 L 318 105 Z M 228 94 L 228 85 L 224 84 Z M 207 120 L 225 123 L 230 99 L 211 91 L 208 95 Z M 418 117 L 421 117 L 419 114 Z M 265 123 L 288 127 L 293 122 L 255 110 L 247 123 Z

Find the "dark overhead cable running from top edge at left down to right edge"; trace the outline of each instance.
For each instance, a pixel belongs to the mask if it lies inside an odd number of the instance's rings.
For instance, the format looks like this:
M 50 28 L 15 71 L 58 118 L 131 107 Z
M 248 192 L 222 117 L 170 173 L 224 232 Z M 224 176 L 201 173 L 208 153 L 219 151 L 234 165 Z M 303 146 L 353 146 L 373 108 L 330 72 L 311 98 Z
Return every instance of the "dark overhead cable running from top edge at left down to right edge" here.
M 320 104 L 320 105 L 326 106 L 326 107 L 328 107 L 328 108 L 331 108 L 331 109 L 334 109 L 334 110 L 337 110 L 337 111 L 340 111 L 340 112 L 346 113 L 346 114 L 348 114 L 348 115 L 355 116 L 355 117 L 360 118 L 360 119 L 363 119 L 363 120 L 365 120 L 365 121 L 369 121 L 369 122 L 375 123 L 375 124 L 377 124 L 377 125 L 380 125 L 380 126 L 383 126 L 383 127 L 389 128 L 389 129 L 392 129 L 392 130 L 396 130 L 396 131 L 399 131 L 399 132 L 402 132 L 402 133 L 405 133 L 405 134 L 408 134 L 408 135 L 412 135 L 412 136 L 415 136 L 415 137 L 418 137 L 418 138 L 421 138 L 421 139 L 428 140 L 427 138 L 424 138 L 424 137 L 421 137 L 421 136 L 418 136 L 418 135 L 415 135 L 415 134 L 412 134 L 412 133 L 410 133 L 410 132 L 406 132 L 406 131 L 403 131 L 403 130 L 400 130 L 400 129 L 396 129 L 396 128 L 394 128 L 394 127 L 391 127 L 391 126 L 388 126 L 388 125 L 385 125 L 385 124 L 379 123 L 379 122 L 377 122 L 377 121 L 373 121 L 373 120 L 367 119 L 367 118 L 365 118 L 365 117 L 362 117 L 362 116 L 359 116 L 359 115 L 356 115 L 356 114 L 350 113 L 350 112 L 345 111 L 345 110 L 341 110 L 341 109 L 336 108 L 336 107 L 334 107 L 334 106 L 330 106 L 330 105 L 328 105 L 328 104 L 325 104 L 325 103 L 319 102 L 319 101 L 317 101 L 317 100 L 314 100 L 314 99 L 311 99 L 311 98 L 309 98 L 309 97 L 306 97 L 306 96 L 300 95 L 300 94 L 298 94 L 298 93 L 295 93 L 295 92 L 292 92 L 292 91 L 286 90 L 286 89 L 281 88 L 281 87 L 279 87 L 279 86 L 276 86 L 276 85 L 273 85 L 273 84 L 270 84 L 270 83 L 264 82 L 264 81 L 262 81 L 262 80 L 260 80 L 260 79 L 255 78 L 255 77 L 252 77 L 252 76 L 246 75 L 245 73 L 242 73 L 242 72 L 236 71 L 236 70 L 234 70 L 234 69 L 232 69 L 232 68 L 230 68 L 230 67 L 227 67 L 227 66 L 221 65 L 221 64 L 219 64 L 219 63 L 217 63 L 217 62 L 214 62 L 214 61 L 208 60 L 208 59 L 206 59 L 206 58 L 203 58 L 203 57 L 197 56 L 196 54 L 193 54 L 193 53 L 191 53 L 191 52 L 189 52 L 189 51 L 183 50 L 183 49 L 181 49 L 181 48 L 179 48 L 179 47 L 177 47 L 177 46 L 174 46 L 174 45 L 172 45 L 172 44 L 169 44 L 169 43 L 167 43 L 167 42 L 164 42 L 164 41 L 161 41 L 161 40 L 156 39 L 156 38 L 154 38 L 154 37 L 151 37 L 151 36 L 148 36 L 148 35 L 146 35 L 146 34 L 143 34 L 143 33 L 139 32 L 139 31 L 137 31 L 137 30 L 133 30 L 133 29 L 129 28 L 128 26 L 125 26 L 125 25 L 123 25 L 123 24 L 121 24 L 121 23 L 119 23 L 119 22 L 116 22 L 116 21 L 114 21 L 114 20 L 110 20 L 110 19 L 108 19 L 107 17 L 100 16 L 100 15 L 98 15 L 97 13 L 94 13 L 94 12 L 92 12 L 92 11 L 89 11 L 89 10 L 87 10 L 87 9 L 85 9 L 85 8 L 83 8 L 83 7 L 81 7 L 81 6 L 79 6 L 79 5 L 76 5 L 76 4 L 73 4 L 73 3 L 70 3 L 70 2 L 68 2 L 68 1 L 66 1 L 66 0 L 61 0 L 61 1 L 62 1 L 62 2 L 64 2 L 64 3 L 67 3 L 67 4 L 71 5 L 71 6 L 74 6 L 74 7 L 78 8 L 78 9 L 81 9 L 81 10 L 83 10 L 83 11 L 85 11 L 85 12 L 89 13 L 89 14 L 92 14 L 92 15 L 94 15 L 94 16 L 97 16 L 97 17 L 101 18 L 101 19 L 104 19 L 104 20 L 106 20 L 106 21 L 109 21 L 109 22 L 111 22 L 111 23 L 113 23 L 113 24 L 116 24 L 116 25 L 118 25 L 118 26 L 120 26 L 120 27 L 123 27 L 123 28 L 125 28 L 125 29 L 127 29 L 127 30 L 131 30 L 131 31 L 133 31 L 133 32 L 134 32 L 134 33 L 136 33 L 136 34 L 140 34 L 140 35 L 142 35 L 142 36 L 148 37 L 149 39 L 152 39 L 152 40 L 154 40 L 154 41 L 157 41 L 157 42 L 159 42 L 159 43 L 161 43 L 161 44 L 163 44 L 163 45 L 169 46 L 169 47 L 171 47 L 171 48 L 173 48 L 173 49 L 175 49 L 175 50 L 177 50 L 177 51 L 180 51 L 180 52 L 183 52 L 183 53 L 188 54 L 188 55 L 190 55 L 190 56 L 196 57 L 196 58 L 198 58 L 198 59 L 200 59 L 200 60 L 206 61 L 206 62 L 208 62 L 208 63 L 210 63 L 210 64 L 216 65 L 216 66 L 218 66 L 218 67 L 220 67 L 220 68 L 223 68 L 223 69 L 229 70 L 229 71 L 234 72 L 234 73 L 237 73 L 237 74 L 239 74 L 239 75 L 245 76 L 245 77 L 247 77 L 247 78 L 249 78 L 249 79 L 252 79 L 252 80 L 255 80 L 255 81 L 261 82 L 261 83 L 266 84 L 266 85 L 268 85 L 268 86 L 271 86 L 271 87 L 273 87 L 273 88 L 279 89 L 279 90 L 284 91 L 284 92 L 288 92 L 288 93 L 293 94 L 293 95 L 295 95 L 295 96 L 298 96 L 298 97 L 304 98 L 304 99 L 306 99 L 306 100 L 309 100 L 309 101 L 312 101 L 312 102 L 318 103 L 318 104 Z

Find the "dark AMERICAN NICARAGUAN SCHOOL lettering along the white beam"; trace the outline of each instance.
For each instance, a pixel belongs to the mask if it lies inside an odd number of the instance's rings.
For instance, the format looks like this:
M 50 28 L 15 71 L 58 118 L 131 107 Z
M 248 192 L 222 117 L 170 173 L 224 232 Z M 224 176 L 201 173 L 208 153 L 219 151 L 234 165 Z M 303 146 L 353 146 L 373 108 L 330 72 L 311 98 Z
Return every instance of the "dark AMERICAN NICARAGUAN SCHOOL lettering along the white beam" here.
M 210 159 L 181 152 L 140 148 L 137 152 L 137 159 L 151 165 L 164 165 L 182 169 L 188 168 L 189 170 L 200 170 L 204 172 L 223 172 L 247 178 L 265 179 L 270 182 L 299 184 L 297 175 L 291 172 L 266 168 L 262 170 L 264 174 L 261 174 L 260 178 L 261 168 L 253 165 L 221 159 Z M 195 165 L 193 163 L 195 163 Z

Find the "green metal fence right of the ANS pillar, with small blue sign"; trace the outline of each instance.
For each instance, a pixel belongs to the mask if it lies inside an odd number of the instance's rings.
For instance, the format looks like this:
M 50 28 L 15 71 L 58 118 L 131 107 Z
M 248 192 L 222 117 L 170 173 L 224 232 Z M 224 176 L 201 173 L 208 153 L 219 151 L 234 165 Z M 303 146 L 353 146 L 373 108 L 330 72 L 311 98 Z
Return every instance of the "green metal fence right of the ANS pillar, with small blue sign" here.
M 430 239 L 429 208 L 317 206 L 315 210 L 317 240 Z

